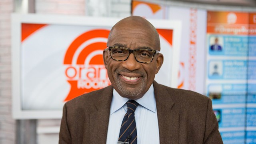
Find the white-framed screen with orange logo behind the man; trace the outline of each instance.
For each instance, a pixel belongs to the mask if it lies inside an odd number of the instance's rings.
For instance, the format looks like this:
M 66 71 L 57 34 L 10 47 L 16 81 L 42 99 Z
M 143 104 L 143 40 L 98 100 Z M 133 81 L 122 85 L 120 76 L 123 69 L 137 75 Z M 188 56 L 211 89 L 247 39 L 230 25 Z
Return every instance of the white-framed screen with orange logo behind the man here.
M 13 14 L 13 117 L 61 118 L 66 101 L 110 85 L 102 51 L 110 29 L 119 20 Z M 155 80 L 176 87 L 180 22 L 149 21 L 160 34 L 164 55 L 164 64 Z

